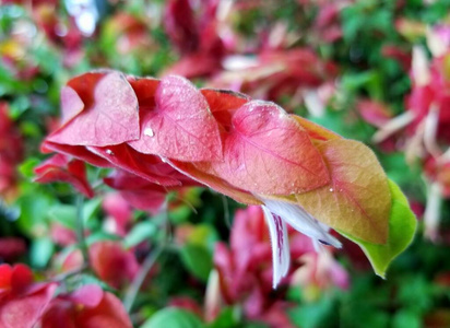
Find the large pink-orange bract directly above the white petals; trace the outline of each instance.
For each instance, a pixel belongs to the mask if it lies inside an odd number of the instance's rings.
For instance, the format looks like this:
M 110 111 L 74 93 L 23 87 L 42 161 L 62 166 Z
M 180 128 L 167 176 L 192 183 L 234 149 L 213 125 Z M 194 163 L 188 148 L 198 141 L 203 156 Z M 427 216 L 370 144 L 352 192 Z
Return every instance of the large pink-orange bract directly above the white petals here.
M 308 133 L 281 107 L 251 101 L 233 117 L 224 161 L 212 173 L 256 194 L 289 195 L 312 190 L 330 180 Z

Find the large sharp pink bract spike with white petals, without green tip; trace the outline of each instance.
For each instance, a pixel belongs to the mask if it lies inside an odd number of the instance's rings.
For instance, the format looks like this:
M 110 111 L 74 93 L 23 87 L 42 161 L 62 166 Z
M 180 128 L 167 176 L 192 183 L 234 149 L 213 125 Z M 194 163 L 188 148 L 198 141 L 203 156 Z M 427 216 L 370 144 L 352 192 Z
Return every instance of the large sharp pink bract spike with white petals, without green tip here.
M 140 209 L 155 210 L 168 190 L 199 184 L 262 206 L 274 285 L 288 270 L 286 222 L 317 248 L 340 247 L 330 226 L 387 243 L 391 192 L 374 153 L 273 103 L 198 90 L 176 75 L 97 71 L 70 80 L 61 105 L 61 125 L 43 144 L 60 154 L 36 169 L 38 180 L 70 181 L 91 197 L 84 161 L 114 168 L 105 183 Z

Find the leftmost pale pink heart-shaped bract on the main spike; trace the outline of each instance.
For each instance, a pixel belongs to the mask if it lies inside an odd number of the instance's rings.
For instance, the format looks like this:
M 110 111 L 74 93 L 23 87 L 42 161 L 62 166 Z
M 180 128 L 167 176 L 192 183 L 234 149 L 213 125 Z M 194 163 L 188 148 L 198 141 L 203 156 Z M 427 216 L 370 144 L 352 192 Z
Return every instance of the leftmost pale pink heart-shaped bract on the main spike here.
M 84 110 L 51 133 L 48 141 L 102 147 L 139 138 L 138 98 L 123 74 L 108 73 L 92 92 L 92 105 L 81 95 Z

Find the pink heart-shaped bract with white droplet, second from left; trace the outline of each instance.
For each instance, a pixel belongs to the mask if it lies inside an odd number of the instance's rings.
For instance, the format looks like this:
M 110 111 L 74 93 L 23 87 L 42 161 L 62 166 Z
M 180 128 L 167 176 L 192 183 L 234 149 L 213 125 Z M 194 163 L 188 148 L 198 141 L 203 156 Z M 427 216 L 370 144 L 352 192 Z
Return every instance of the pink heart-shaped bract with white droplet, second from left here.
M 180 77 L 161 81 L 156 107 L 141 118 L 141 137 L 129 144 L 137 151 L 179 161 L 222 157 L 217 124 L 202 94 Z M 141 108 L 142 109 L 142 108 Z

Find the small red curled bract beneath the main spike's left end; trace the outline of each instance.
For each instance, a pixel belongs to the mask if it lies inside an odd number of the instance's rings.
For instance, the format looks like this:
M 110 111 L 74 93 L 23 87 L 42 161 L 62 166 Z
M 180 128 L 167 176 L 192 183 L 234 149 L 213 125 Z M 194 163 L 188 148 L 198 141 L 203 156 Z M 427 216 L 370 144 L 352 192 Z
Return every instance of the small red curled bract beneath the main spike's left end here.
M 79 160 L 69 161 L 64 155 L 56 154 L 35 167 L 34 171 L 37 175 L 35 178 L 37 183 L 64 181 L 72 185 L 87 198 L 94 197 L 94 191 L 86 179 L 84 162 Z

